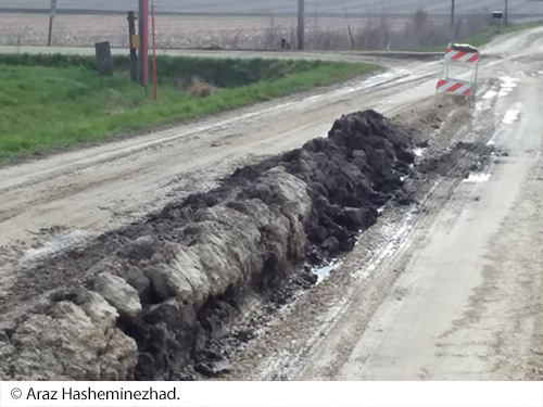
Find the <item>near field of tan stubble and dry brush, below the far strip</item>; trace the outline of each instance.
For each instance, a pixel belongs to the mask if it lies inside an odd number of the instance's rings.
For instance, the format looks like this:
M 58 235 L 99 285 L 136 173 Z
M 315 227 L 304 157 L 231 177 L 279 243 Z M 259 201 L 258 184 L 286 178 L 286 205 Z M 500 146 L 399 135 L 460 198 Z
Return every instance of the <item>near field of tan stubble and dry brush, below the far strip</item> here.
M 539 4 L 543 7 L 543 2 Z M 512 21 L 516 22 L 517 18 Z M 481 15 L 458 17 L 457 23 L 462 26 L 455 34 L 459 40 L 488 28 L 488 18 Z M 413 16 L 407 14 L 394 14 L 384 18 L 351 16 L 349 24 L 357 49 L 433 46 L 441 49 L 451 38 L 447 33 L 449 16 L 439 14 L 430 14 L 425 26 L 414 25 Z M 156 16 L 156 43 L 159 49 L 277 50 L 281 39 L 295 46 L 296 25 L 295 15 L 160 14 Z M 0 12 L 0 46 L 45 46 L 48 27 L 48 14 Z M 416 28 L 419 33 L 414 33 Z M 56 16 L 53 46 L 93 47 L 94 42 L 100 41 L 110 41 L 116 48 L 128 47 L 126 14 L 70 13 Z M 307 16 L 307 49 L 349 50 L 351 47 L 344 16 Z

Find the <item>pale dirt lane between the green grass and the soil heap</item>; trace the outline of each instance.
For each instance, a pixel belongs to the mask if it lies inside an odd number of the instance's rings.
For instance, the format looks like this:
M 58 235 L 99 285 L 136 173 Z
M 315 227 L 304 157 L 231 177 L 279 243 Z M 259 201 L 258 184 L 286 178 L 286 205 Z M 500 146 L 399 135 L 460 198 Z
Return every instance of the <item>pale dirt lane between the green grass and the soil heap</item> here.
M 431 92 L 425 78 L 435 68 L 391 68 L 333 89 L 1 169 L 2 291 L 14 270 L 33 259 L 137 219 L 172 196 L 205 189 L 242 162 L 324 136 L 344 112 L 393 113 L 409 105 L 419 89 Z

